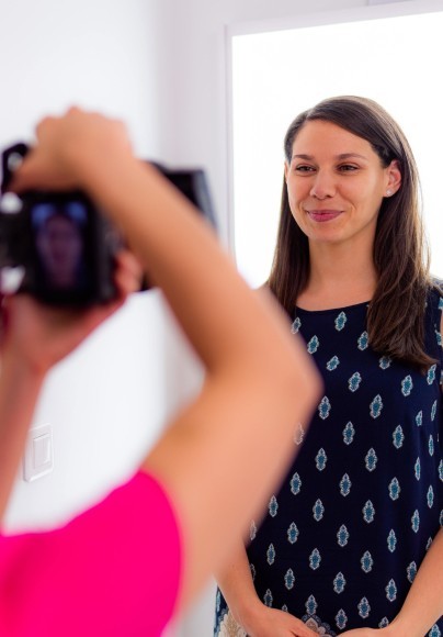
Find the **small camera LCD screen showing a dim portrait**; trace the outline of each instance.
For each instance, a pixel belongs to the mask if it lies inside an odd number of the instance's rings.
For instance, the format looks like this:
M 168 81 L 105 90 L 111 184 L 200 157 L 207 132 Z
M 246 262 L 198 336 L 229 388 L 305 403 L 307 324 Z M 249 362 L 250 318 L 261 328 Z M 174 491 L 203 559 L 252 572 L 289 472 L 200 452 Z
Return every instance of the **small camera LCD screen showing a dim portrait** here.
M 49 302 L 78 303 L 92 294 L 90 210 L 79 199 L 34 202 L 30 210 L 35 289 Z

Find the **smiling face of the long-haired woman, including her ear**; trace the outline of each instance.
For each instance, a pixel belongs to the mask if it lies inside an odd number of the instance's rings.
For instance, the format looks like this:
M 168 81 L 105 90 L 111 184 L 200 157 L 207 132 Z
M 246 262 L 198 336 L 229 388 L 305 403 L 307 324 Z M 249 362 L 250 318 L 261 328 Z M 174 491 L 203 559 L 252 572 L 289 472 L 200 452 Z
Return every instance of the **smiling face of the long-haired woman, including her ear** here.
M 310 243 L 354 246 L 372 246 L 383 198 L 401 180 L 397 161 L 384 168 L 366 139 L 320 120 L 299 131 L 285 178 L 292 214 Z

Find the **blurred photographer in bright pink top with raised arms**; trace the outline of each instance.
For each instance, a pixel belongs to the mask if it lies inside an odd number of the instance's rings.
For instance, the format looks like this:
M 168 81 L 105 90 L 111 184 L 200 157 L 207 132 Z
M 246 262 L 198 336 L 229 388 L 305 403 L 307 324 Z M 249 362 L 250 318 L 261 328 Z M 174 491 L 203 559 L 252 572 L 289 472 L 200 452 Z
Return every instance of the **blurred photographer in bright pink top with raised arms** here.
M 72 109 L 44 120 L 36 136 L 12 189 L 80 188 L 105 210 L 162 289 L 206 376 L 129 482 L 63 528 L 0 538 L 0 634 L 159 636 L 277 483 L 319 382 L 280 311 L 247 288 L 193 206 L 134 157 L 122 124 Z M 135 273 L 122 255 L 121 298 L 75 314 L 8 299 L 2 511 L 47 370 L 123 302 Z

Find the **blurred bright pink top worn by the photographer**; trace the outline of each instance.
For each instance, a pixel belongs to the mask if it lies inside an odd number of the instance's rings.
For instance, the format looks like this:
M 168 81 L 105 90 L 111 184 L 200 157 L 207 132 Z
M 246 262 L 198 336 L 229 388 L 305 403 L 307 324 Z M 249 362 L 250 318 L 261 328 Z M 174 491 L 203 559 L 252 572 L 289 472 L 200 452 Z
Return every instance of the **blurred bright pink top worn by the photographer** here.
M 0 536 L 0 634 L 161 635 L 180 570 L 169 499 L 138 472 L 63 528 Z

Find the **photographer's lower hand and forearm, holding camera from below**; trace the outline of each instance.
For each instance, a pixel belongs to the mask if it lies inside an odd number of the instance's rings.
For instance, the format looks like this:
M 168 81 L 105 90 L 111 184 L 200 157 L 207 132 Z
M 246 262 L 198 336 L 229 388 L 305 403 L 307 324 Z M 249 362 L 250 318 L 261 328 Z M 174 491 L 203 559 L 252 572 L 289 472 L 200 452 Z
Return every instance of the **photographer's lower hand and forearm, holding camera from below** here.
M 0 519 L 46 372 L 70 354 L 138 287 L 139 266 L 117 257 L 118 299 L 90 310 L 58 310 L 18 294 L 2 299 L 0 373 Z

